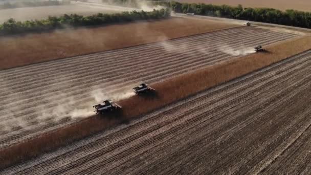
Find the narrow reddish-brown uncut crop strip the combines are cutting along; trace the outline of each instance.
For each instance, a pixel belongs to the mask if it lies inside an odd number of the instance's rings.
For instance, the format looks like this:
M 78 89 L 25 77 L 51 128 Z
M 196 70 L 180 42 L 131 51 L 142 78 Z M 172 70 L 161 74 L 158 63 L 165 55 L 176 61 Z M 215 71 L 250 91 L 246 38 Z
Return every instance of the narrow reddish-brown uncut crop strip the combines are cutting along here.
M 176 100 L 309 50 L 311 49 L 310 43 L 310 37 L 292 39 L 266 48 L 269 51 L 266 53 L 235 58 L 191 74 L 152 84 L 157 90 L 157 93 L 151 96 L 153 98 L 134 96 L 122 100 L 119 103 L 123 108 L 119 113 L 105 117 L 90 117 L 55 132 L 43 134 L 35 139 L 0 150 L 0 158 L 3 160 L 1 168 L 34 158 L 43 152 L 54 150 L 121 122 L 137 118 Z

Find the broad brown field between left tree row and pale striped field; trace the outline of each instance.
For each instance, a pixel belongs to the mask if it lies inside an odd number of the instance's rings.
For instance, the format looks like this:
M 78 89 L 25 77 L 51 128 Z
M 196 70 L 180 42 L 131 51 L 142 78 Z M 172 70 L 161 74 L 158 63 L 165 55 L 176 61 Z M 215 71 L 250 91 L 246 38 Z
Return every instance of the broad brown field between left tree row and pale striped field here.
M 205 19 L 159 21 L 0 37 L 0 69 L 236 27 Z

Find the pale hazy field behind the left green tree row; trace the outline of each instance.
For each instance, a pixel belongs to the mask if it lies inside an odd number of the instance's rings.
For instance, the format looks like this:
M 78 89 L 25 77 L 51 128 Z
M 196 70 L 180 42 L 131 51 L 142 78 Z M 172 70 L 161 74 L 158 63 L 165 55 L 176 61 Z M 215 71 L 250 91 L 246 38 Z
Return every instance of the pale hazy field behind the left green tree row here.
M 95 6 L 65 5 L 65 6 L 45 6 L 45 7 L 26 7 L 16 9 L 0 10 L 0 23 L 9 18 L 16 20 L 43 19 L 48 16 L 61 16 L 63 14 L 76 13 L 80 15 L 92 15 L 96 13 L 116 13 L 121 11 L 104 9 Z

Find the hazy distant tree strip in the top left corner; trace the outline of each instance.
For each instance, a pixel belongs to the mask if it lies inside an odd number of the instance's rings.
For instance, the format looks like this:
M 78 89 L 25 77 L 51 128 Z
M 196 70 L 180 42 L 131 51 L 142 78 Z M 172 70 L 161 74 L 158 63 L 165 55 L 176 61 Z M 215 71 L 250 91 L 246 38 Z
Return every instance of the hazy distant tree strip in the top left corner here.
M 70 0 L 57 1 L 57 0 L 49 0 L 49 1 L 23 1 L 17 3 L 4 3 L 0 5 L 0 9 L 13 9 L 13 8 L 21 8 L 21 7 L 38 7 L 38 6 L 58 6 L 58 5 L 69 5 Z

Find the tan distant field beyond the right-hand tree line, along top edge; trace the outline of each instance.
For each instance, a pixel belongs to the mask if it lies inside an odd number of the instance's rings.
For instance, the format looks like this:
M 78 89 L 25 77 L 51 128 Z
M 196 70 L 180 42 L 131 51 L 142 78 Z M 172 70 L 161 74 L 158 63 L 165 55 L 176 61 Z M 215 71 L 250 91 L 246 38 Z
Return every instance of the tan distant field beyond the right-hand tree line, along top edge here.
M 180 0 L 179 2 L 187 3 L 205 3 L 215 5 L 243 5 L 243 7 L 269 7 L 280 10 L 295 9 L 302 11 L 311 11 L 310 0 Z

